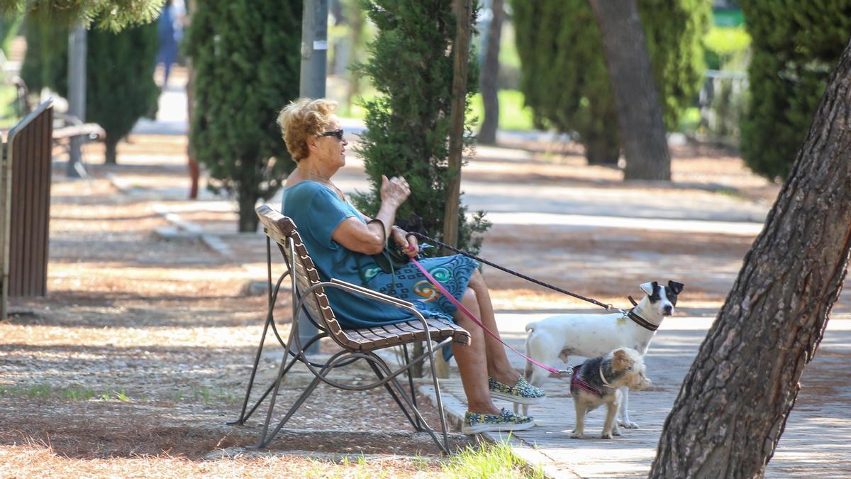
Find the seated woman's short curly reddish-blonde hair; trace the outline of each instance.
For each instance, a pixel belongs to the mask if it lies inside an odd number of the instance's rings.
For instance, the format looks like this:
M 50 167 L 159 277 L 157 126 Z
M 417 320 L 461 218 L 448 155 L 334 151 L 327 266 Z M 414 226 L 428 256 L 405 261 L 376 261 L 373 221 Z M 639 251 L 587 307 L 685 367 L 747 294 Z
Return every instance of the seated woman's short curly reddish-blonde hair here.
M 307 158 L 307 139 L 322 135 L 331 123 L 331 115 L 337 112 L 337 102 L 322 98 L 300 98 L 291 101 L 277 116 L 287 151 L 296 163 Z

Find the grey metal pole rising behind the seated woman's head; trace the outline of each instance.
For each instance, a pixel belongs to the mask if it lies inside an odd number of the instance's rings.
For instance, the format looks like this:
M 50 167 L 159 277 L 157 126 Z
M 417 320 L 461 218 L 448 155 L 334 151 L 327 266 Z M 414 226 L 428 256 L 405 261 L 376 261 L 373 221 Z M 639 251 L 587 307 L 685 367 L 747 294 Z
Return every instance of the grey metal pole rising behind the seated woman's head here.
M 303 98 L 323 98 L 328 64 L 328 0 L 305 0 L 301 14 L 301 70 L 299 95 Z M 299 312 L 299 340 L 302 344 L 317 334 L 317 327 Z M 319 343 L 305 351 L 315 355 Z

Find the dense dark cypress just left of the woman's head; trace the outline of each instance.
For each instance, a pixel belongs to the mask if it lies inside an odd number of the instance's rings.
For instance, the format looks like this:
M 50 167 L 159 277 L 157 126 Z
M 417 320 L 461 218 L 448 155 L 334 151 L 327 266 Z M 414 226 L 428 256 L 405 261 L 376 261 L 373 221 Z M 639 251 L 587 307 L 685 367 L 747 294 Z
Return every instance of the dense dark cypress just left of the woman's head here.
M 199 0 L 186 35 L 194 70 L 191 148 L 236 196 L 239 230 L 294 169 L 275 120 L 299 95 L 301 0 Z

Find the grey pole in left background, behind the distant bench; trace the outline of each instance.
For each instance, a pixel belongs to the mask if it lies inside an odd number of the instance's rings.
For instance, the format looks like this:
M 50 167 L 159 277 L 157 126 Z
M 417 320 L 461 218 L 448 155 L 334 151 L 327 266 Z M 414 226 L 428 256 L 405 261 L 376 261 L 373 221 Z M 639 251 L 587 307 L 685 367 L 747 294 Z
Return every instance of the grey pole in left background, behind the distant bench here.
M 77 25 L 68 36 L 68 113 L 86 119 L 86 29 Z M 68 154 L 66 176 L 79 178 L 77 164 L 80 163 L 79 136 L 71 137 L 71 151 Z

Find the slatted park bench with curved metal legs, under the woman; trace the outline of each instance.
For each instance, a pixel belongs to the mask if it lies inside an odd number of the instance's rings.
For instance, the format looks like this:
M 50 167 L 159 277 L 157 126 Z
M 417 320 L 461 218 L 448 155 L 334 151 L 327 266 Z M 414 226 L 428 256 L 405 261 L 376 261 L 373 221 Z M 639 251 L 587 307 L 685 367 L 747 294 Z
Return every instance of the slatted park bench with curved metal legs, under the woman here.
M 266 412 L 266 421 L 263 424 L 263 431 L 260 436 L 260 442 L 257 447 L 266 447 L 267 444 L 274 438 L 279 430 L 287 423 L 288 419 L 296 412 L 296 410 L 309 398 L 317 385 L 324 382 L 342 390 L 363 391 L 371 390 L 384 386 L 387 392 L 391 395 L 397 406 L 402 410 L 403 414 L 414 430 L 426 431 L 431 435 L 431 438 L 437 443 L 445 453 L 448 453 L 448 436 L 446 429 L 446 417 L 443 413 L 443 400 L 441 398 L 440 387 L 435 373 L 435 355 L 447 346 L 449 343 L 469 344 L 471 337 L 470 333 L 466 332 L 460 326 L 455 326 L 453 323 L 438 319 L 426 319 L 419 311 L 414 309 L 414 305 L 381 294 L 376 291 L 369 290 L 362 286 L 353 285 L 346 281 L 341 281 L 332 278 L 328 281 L 322 281 L 319 278 L 317 269 L 311 260 L 310 254 L 306 250 L 304 243 L 301 240 L 300 234 L 297 231 L 294 222 L 283 216 L 280 212 L 271 209 L 267 205 L 262 205 L 257 208 L 257 215 L 260 217 L 260 222 L 263 223 L 264 231 L 266 232 L 266 267 L 268 274 L 268 309 L 266 311 L 266 324 L 263 326 L 263 333 L 260 338 L 260 346 L 257 349 L 257 354 L 254 357 L 254 367 L 248 379 L 248 390 L 245 393 L 243 401 L 243 409 L 239 418 L 231 424 L 244 424 L 245 421 L 260 407 L 260 404 L 270 395 L 269 405 Z M 271 260 L 271 243 L 275 242 L 278 251 L 283 255 L 284 263 L 287 265 L 287 271 L 281 274 L 277 282 L 272 283 L 272 260 Z M 277 332 L 277 327 L 274 320 L 275 304 L 277 295 L 280 290 L 283 280 L 289 275 L 291 280 L 291 295 L 290 306 L 292 307 L 292 328 L 289 332 L 289 337 L 286 341 Z M 348 291 L 351 294 L 368 297 L 378 303 L 386 303 L 404 309 L 411 313 L 415 318 L 400 324 L 392 326 L 376 326 L 370 328 L 346 330 L 340 326 L 338 320 L 334 316 L 332 304 L 328 302 L 328 297 L 325 294 L 325 288 L 337 288 L 343 291 Z M 298 313 L 304 311 L 307 318 L 317 327 L 317 334 L 310 338 L 306 343 L 301 343 L 298 332 Z M 278 343 L 283 347 L 283 357 L 276 378 L 269 384 L 266 391 L 260 395 L 260 398 L 254 401 L 254 405 L 248 409 L 248 401 L 254 386 L 254 378 L 257 372 L 257 366 L 260 362 L 260 355 L 263 350 L 263 343 L 266 340 L 266 334 L 271 326 L 272 331 L 277 338 Z M 339 351 L 324 361 L 320 361 L 319 355 L 306 355 L 306 350 L 314 343 L 322 338 L 330 338 L 339 347 Z M 436 344 L 432 345 L 432 341 Z M 410 343 L 426 343 L 425 352 L 413 359 L 408 356 L 408 344 Z M 376 354 L 381 349 L 392 347 L 401 347 L 401 357 L 403 360 L 401 366 L 395 370 L 382 357 Z M 368 384 L 355 384 L 341 381 L 336 378 L 328 378 L 328 375 L 334 370 L 349 366 L 357 361 L 366 361 L 372 369 L 376 379 Z M 439 410 L 441 431 L 443 441 L 437 437 L 435 430 L 431 428 L 420 414 L 420 410 L 416 403 L 416 394 L 414 390 L 414 379 L 410 374 L 410 369 L 414 365 L 425 363 L 428 361 L 431 366 L 431 379 L 434 383 L 434 390 L 437 398 L 437 408 Z M 311 383 L 294 401 L 294 404 L 284 414 L 283 418 L 278 421 L 274 429 L 269 432 L 271 423 L 272 411 L 275 407 L 278 389 L 283 381 L 284 376 L 290 371 L 296 362 L 300 362 L 306 366 L 307 370 L 313 374 Z M 398 377 L 400 375 L 408 377 L 408 388 L 410 395 L 403 388 Z

